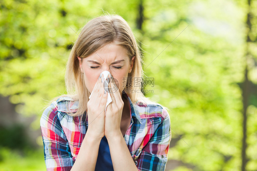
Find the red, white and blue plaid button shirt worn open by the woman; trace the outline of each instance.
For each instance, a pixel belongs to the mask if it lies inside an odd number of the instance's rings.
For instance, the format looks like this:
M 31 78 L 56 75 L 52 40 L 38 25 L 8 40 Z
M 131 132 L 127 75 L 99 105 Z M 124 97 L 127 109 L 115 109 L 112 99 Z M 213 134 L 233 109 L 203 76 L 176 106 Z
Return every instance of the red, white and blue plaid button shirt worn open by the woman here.
M 170 117 L 160 104 L 130 103 L 131 124 L 124 139 L 138 170 L 165 170 L 171 141 Z M 82 116 L 72 117 L 78 103 L 61 97 L 45 109 L 40 119 L 47 170 L 71 170 L 88 127 Z

